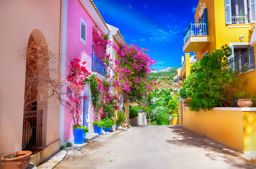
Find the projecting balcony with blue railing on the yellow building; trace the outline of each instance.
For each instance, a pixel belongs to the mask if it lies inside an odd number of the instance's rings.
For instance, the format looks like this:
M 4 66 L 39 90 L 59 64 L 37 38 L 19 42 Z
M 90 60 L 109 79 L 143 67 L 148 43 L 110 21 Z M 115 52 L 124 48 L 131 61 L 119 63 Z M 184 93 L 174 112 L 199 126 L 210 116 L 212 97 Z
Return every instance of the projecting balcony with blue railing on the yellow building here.
M 208 22 L 191 22 L 183 35 L 183 52 L 196 52 L 210 42 Z

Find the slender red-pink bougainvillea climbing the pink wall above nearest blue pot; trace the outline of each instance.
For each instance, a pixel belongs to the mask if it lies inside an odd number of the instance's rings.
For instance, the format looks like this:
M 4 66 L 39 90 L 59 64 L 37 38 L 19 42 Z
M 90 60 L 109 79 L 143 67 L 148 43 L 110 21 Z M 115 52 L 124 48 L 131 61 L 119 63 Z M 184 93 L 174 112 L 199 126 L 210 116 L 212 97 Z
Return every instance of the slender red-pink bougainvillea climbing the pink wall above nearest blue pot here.
M 71 62 L 71 69 L 67 77 L 67 104 L 70 107 L 72 113 L 74 113 L 74 124 L 79 124 L 79 114 L 81 109 L 80 95 L 84 90 L 86 79 L 89 78 L 90 72 L 84 66 L 86 62 L 81 62 L 79 58 L 74 59 Z M 87 99 L 84 96 L 83 99 Z

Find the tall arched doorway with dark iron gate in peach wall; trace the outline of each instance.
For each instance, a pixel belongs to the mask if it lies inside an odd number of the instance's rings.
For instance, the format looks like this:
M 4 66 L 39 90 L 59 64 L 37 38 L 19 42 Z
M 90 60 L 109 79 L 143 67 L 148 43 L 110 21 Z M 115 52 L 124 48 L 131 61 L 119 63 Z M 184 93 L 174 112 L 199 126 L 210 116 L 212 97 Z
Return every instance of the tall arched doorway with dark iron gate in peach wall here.
M 42 71 L 45 64 L 41 56 L 48 55 L 48 47 L 43 33 L 35 29 L 31 32 L 26 49 L 26 79 L 23 112 L 22 149 L 33 150 L 42 146 L 43 112 L 47 113 L 47 86 L 40 85 L 40 78 L 49 72 Z M 46 91 L 46 92 L 44 92 Z

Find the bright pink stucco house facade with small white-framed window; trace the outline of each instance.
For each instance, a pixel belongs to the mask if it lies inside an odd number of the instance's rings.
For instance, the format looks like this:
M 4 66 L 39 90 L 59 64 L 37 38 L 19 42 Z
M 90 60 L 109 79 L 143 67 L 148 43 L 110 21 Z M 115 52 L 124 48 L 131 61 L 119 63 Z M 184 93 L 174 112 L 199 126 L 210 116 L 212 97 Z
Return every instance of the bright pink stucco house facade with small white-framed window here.
M 64 16 L 65 17 L 65 16 Z M 71 62 L 75 58 L 79 58 L 82 62 L 86 61 L 85 67 L 89 72 L 92 71 L 92 54 L 98 58 L 105 56 L 103 48 L 97 42 L 100 40 L 100 33 L 108 34 L 107 27 L 104 25 L 99 15 L 95 11 L 89 0 L 72 0 L 67 1 L 67 41 L 66 41 L 66 65 L 65 73 L 68 76 Z M 85 25 L 85 40 L 81 40 L 81 23 Z M 97 26 L 97 27 L 95 27 Z M 102 28 L 103 27 L 103 28 Z M 96 74 L 100 79 L 104 78 L 100 74 Z M 92 105 L 92 97 L 90 86 L 86 85 L 82 96 L 87 96 L 86 100 L 82 99 L 82 107 L 80 114 L 80 124 L 89 128 L 89 132 L 93 132 L 93 122 L 97 120 Z M 74 114 L 70 112 L 69 107 L 64 107 L 64 142 L 74 142 L 72 127 L 74 125 Z M 99 118 L 102 111 L 99 113 Z

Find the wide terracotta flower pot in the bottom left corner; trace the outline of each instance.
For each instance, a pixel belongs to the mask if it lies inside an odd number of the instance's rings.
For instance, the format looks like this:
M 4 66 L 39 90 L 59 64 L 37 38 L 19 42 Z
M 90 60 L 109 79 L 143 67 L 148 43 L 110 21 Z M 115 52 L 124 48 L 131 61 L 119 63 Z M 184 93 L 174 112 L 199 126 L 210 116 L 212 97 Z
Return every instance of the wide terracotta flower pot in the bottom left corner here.
M 31 159 L 31 151 L 20 151 L 18 154 L 20 157 L 8 158 L 16 155 L 17 152 L 13 152 L 1 157 L 2 164 L 1 169 L 26 169 Z

